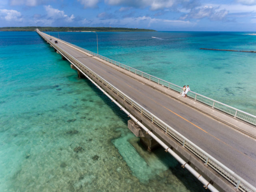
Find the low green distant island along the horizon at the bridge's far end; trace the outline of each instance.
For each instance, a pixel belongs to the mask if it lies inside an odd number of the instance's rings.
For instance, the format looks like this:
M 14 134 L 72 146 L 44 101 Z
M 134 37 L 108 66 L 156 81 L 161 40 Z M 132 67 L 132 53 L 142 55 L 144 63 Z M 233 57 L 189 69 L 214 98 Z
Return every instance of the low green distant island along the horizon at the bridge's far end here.
M 152 29 L 121 28 L 121 27 L 0 27 L 0 31 L 65 31 L 65 32 L 152 32 Z

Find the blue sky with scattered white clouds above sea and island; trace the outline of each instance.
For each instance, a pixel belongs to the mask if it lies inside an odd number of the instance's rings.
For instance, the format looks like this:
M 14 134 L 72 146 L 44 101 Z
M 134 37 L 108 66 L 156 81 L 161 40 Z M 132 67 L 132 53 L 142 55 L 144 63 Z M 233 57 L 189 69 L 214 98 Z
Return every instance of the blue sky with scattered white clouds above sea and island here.
M 0 0 L 0 27 L 256 31 L 256 0 Z

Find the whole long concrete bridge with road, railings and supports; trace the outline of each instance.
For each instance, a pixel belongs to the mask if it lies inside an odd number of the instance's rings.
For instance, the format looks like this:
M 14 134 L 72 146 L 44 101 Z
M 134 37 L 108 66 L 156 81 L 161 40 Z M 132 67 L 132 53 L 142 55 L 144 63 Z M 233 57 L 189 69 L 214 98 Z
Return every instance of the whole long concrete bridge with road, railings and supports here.
M 170 83 L 36 31 L 131 117 L 128 128 L 148 150 L 160 144 L 211 191 L 256 192 L 254 120 L 217 110 L 214 100 L 211 107 L 198 102 L 199 94 L 183 98 Z

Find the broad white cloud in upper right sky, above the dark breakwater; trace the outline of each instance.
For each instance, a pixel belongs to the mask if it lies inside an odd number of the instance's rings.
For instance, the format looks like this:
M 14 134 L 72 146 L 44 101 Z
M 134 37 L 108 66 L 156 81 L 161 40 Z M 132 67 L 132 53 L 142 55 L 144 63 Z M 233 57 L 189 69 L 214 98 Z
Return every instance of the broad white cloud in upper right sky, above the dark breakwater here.
M 182 20 L 186 19 L 202 19 L 202 18 L 209 18 L 210 20 L 223 20 L 226 15 L 228 14 L 228 11 L 226 9 L 218 10 L 218 7 L 212 7 L 212 6 L 204 6 L 202 8 L 196 8 L 190 10 L 188 14 L 186 14 L 183 17 L 180 17 Z

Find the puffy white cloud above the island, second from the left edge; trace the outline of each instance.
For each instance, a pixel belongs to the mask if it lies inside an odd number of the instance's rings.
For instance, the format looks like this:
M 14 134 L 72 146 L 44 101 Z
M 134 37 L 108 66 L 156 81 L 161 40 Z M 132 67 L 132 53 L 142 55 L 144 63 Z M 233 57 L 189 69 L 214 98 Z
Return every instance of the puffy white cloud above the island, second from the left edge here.
M 64 13 L 64 11 L 54 9 L 52 6 L 44 6 L 48 18 L 52 20 L 58 20 L 58 19 L 63 19 L 66 22 L 72 22 L 73 19 L 75 18 L 74 15 L 72 14 L 70 17 Z

